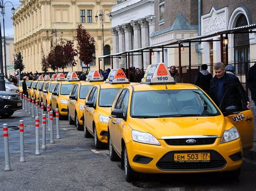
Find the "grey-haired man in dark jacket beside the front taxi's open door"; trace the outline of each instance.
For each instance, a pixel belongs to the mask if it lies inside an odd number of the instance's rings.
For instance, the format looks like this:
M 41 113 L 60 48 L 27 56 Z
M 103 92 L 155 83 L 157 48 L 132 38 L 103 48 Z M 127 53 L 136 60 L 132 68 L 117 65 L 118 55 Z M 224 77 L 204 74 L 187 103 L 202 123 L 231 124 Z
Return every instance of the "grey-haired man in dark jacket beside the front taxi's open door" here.
M 241 100 L 245 100 L 247 109 L 250 109 L 249 98 L 238 77 L 227 74 L 224 63 L 221 62 L 214 64 L 214 71 L 216 74 L 210 82 L 209 95 L 220 109 L 225 110 L 231 105 L 239 110 L 244 109 L 245 105 L 242 105 Z

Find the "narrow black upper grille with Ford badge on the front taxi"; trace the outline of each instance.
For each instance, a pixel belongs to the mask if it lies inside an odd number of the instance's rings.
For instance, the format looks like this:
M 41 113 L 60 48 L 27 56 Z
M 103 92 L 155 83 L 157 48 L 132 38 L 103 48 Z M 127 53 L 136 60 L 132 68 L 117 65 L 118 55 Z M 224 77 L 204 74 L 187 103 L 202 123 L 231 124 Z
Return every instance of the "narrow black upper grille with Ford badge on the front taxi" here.
M 194 138 L 192 138 L 194 139 Z M 195 138 L 194 140 L 196 140 L 196 143 L 193 144 L 188 144 L 186 143 L 186 140 L 188 140 L 188 138 L 186 139 L 164 139 L 165 142 L 168 145 L 211 145 L 215 142 L 216 138 L 215 137 L 211 137 L 211 138 Z

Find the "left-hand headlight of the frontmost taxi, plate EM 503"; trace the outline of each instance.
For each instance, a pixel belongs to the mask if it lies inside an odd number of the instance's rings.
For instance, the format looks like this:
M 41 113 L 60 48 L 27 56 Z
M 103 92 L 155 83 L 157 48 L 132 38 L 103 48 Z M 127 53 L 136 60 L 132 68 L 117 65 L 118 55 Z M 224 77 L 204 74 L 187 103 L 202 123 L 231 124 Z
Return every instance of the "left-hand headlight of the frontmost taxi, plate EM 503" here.
M 152 136 L 147 132 L 140 132 L 136 130 L 132 130 L 132 140 L 134 142 L 146 143 L 151 145 L 161 145 L 156 137 Z

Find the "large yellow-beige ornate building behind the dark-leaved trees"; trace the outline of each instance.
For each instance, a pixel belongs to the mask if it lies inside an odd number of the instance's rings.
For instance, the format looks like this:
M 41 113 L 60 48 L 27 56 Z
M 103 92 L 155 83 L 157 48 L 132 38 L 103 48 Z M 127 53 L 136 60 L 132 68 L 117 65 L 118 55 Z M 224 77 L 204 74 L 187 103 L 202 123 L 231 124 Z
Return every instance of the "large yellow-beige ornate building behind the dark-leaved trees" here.
M 25 64 L 24 72 L 41 72 L 42 55 L 48 55 L 50 42 L 60 43 L 60 39 L 75 40 L 78 24 L 96 40 L 96 57 L 112 53 L 112 34 L 109 31 L 111 21 L 107 13 L 116 4 L 116 0 L 23 0 L 14 17 L 15 52 L 22 52 Z M 102 41 L 102 23 L 95 19 L 104 12 L 104 53 Z M 99 18 L 99 17 L 98 17 Z M 57 34 L 57 35 L 56 35 Z M 77 41 L 75 40 L 75 46 Z M 82 70 L 82 62 L 77 58 L 75 71 Z M 110 64 L 109 61 L 104 61 Z M 106 63 L 107 62 L 107 63 Z M 98 59 L 91 63 L 90 69 L 98 69 Z M 100 63 L 103 68 L 103 63 Z M 107 66 L 108 67 L 108 66 Z M 65 71 L 71 70 L 71 67 Z

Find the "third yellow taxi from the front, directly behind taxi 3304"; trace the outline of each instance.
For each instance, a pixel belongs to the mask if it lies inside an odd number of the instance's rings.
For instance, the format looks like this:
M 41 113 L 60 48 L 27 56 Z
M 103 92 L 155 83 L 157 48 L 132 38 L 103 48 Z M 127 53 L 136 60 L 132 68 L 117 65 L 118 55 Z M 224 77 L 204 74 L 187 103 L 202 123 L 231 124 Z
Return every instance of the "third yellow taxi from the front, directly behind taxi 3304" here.
M 86 82 L 79 82 L 75 84 L 70 92 L 68 103 L 68 118 L 69 124 L 75 122 L 77 130 L 83 130 L 83 110 L 84 103 L 89 89 L 97 84 L 104 83 L 102 75 L 97 70 L 91 70 L 88 74 Z

